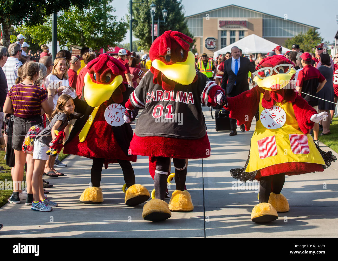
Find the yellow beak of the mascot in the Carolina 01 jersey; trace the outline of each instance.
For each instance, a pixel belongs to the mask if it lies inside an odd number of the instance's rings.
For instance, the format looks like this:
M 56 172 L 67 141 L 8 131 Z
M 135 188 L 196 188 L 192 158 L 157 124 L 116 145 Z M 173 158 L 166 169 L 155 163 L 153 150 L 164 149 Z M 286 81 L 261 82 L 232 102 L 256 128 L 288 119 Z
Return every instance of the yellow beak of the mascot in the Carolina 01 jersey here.
M 188 57 L 185 62 L 176 62 L 167 65 L 156 59 L 152 61 L 151 65 L 161 71 L 169 80 L 183 85 L 191 84 L 196 76 L 195 56 L 191 51 L 188 52 Z

